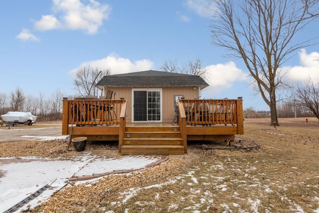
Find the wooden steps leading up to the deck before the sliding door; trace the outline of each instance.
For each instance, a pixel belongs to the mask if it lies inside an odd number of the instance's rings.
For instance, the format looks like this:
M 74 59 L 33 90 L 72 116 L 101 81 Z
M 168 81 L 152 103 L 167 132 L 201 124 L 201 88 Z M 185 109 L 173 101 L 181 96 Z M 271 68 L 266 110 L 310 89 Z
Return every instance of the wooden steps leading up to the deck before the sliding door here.
M 178 126 L 126 127 L 122 155 L 183 155 L 184 146 Z

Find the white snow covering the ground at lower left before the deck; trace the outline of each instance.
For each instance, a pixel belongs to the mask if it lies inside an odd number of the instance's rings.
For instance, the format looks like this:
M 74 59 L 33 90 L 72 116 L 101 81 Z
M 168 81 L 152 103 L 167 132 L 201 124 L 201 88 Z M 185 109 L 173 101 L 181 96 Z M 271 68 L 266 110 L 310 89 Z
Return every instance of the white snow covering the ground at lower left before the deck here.
M 42 138 L 52 139 L 52 137 Z M 90 153 L 73 160 L 37 157 L 0 158 L 0 212 L 8 210 L 45 185 L 50 185 L 49 189 L 25 204 L 22 209 L 27 209 L 28 204 L 31 208 L 38 206 L 64 187 L 73 175 L 81 177 L 118 170 L 142 169 L 158 160 L 160 159 L 143 156 L 101 159 L 91 156 Z

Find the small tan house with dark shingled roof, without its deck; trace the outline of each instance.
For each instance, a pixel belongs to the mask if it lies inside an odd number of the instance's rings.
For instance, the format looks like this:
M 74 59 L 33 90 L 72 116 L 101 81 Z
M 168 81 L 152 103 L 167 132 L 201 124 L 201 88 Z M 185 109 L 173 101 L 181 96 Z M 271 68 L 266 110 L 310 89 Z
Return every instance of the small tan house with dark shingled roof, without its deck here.
M 199 76 L 148 70 L 104 76 L 96 86 L 128 101 L 127 123 L 172 123 L 175 100 L 198 99 L 208 84 Z

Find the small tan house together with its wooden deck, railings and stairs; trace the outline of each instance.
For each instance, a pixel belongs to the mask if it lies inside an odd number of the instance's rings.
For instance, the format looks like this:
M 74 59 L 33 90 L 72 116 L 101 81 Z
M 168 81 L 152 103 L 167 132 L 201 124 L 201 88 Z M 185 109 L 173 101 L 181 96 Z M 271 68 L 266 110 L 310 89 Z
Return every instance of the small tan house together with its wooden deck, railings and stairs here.
M 104 96 L 63 100 L 62 134 L 119 141 L 123 155 L 187 153 L 187 141 L 243 134 L 242 99 L 199 99 L 195 75 L 148 70 L 104 76 Z

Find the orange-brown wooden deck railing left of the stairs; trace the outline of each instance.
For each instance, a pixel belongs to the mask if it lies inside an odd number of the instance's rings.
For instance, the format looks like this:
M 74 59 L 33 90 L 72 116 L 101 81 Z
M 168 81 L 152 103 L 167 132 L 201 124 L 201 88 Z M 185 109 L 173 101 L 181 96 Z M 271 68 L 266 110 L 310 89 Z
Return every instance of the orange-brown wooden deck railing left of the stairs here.
M 113 125 L 120 123 L 125 100 L 63 100 L 62 123 L 66 126 Z

